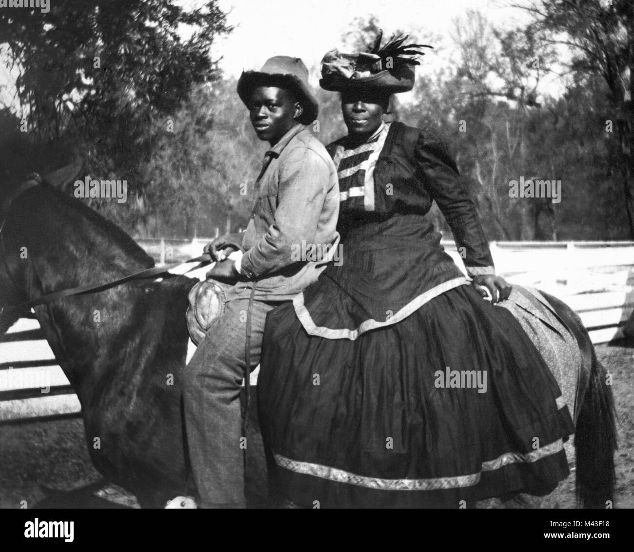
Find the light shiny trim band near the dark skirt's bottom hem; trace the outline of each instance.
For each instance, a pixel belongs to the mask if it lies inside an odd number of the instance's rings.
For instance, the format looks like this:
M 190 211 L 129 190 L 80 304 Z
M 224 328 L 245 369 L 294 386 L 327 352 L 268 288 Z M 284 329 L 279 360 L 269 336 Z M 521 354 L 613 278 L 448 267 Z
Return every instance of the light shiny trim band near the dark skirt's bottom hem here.
M 536 462 L 547 456 L 560 453 L 563 449 L 563 439 L 557 439 L 555 442 L 530 453 L 505 453 L 493 460 L 482 462 L 481 471 L 477 473 L 469 473 L 468 475 L 458 475 L 455 477 L 432 477 L 424 479 L 382 479 L 378 477 L 366 477 L 364 475 L 346 472 L 345 470 L 339 470 L 339 468 L 333 468 L 332 466 L 293 460 L 277 453 L 274 453 L 274 456 L 276 464 L 281 468 L 339 483 L 348 483 L 357 485 L 358 487 L 375 489 L 377 491 L 437 491 L 442 489 L 471 487 L 479 483 L 482 472 L 493 472 L 510 464 Z

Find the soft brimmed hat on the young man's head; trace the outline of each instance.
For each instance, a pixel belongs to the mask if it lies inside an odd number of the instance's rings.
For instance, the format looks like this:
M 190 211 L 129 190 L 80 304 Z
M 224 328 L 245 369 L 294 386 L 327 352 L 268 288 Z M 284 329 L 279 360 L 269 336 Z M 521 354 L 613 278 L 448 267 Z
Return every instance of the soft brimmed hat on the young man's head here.
M 299 117 L 302 124 L 311 124 L 319 115 L 319 104 L 308 86 L 308 70 L 300 58 L 275 56 L 266 60 L 259 71 L 243 71 L 238 80 L 238 96 L 245 105 L 257 86 L 277 86 L 292 91 L 304 112 Z

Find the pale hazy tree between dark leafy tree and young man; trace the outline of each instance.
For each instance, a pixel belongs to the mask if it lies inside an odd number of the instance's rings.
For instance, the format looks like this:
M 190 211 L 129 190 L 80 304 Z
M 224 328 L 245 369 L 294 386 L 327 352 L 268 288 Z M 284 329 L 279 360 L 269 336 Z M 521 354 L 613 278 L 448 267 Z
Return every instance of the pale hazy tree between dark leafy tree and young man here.
M 134 233 L 191 238 L 245 228 L 267 146 L 253 131 L 235 79 L 196 85 L 153 133 L 155 155 L 143 167 L 147 216 Z

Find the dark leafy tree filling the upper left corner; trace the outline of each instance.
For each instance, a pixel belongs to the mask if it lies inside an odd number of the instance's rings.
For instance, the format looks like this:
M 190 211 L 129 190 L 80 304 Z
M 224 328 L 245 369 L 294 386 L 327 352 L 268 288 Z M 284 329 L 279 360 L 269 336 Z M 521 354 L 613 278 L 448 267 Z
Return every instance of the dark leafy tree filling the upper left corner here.
M 182 25 L 193 34 L 179 35 Z M 0 45 L 19 69 L 20 119 L 39 143 L 82 144 L 88 167 L 141 193 L 153 120 L 192 84 L 217 77 L 209 48 L 230 32 L 216 0 L 186 10 L 163 0 L 56 0 L 50 11 L 0 10 Z

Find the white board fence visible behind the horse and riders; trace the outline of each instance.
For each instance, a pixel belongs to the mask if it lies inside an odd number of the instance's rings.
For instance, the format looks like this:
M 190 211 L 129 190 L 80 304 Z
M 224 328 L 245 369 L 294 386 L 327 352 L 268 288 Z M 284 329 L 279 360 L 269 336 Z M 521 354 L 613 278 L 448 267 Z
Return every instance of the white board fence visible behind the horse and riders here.
M 211 238 L 139 240 L 157 263 L 191 259 Z M 443 245 L 463 267 L 453 241 Z M 345 257 L 345 250 L 344 250 Z M 552 293 L 579 313 L 593 343 L 623 335 L 634 311 L 634 242 L 491 243 L 498 274 Z M 205 269 L 206 271 L 206 269 Z M 42 393 L 42 388 L 48 392 Z M 77 415 L 79 401 L 35 319 L 0 337 L 0 422 Z

